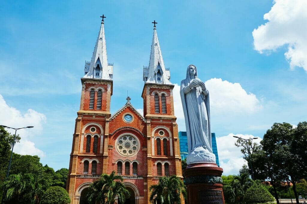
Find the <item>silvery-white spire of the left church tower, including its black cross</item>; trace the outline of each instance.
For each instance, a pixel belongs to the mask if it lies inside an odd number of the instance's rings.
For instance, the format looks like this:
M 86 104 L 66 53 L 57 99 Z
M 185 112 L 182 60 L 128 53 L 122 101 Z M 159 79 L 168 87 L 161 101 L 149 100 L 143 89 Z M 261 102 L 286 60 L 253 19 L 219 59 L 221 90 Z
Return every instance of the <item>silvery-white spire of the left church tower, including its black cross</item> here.
M 113 65 L 108 65 L 106 38 L 104 36 L 104 15 L 101 16 L 101 26 L 94 48 L 90 65 L 87 66 L 86 74 L 83 78 L 95 78 L 111 80 L 113 74 Z

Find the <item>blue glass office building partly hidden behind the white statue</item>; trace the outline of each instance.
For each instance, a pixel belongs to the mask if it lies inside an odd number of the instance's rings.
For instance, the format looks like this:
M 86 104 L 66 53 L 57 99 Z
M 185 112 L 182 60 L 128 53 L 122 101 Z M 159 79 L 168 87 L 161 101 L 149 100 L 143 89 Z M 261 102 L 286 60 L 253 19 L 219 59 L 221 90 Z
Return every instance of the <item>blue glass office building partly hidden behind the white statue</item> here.
M 178 132 L 178 136 L 179 136 L 179 145 L 180 145 L 180 156 L 181 159 L 185 159 L 188 156 L 187 132 L 180 131 Z M 212 136 L 212 150 L 216 157 L 216 164 L 220 166 L 219 155 L 217 153 L 215 133 L 211 133 L 211 136 Z

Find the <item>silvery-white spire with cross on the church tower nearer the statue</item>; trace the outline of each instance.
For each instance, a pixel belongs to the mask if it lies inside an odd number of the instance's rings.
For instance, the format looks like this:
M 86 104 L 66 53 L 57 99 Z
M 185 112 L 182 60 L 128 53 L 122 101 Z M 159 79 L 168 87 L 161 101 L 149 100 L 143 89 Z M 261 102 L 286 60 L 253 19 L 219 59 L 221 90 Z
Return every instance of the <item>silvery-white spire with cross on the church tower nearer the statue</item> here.
M 172 84 L 170 79 L 169 69 L 166 69 L 163 62 L 160 43 L 158 40 L 156 21 L 152 22 L 153 26 L 153 41 L 151 43 L 149 66 L 143 67 L 143 80 L 145 83 L 155 84 Z

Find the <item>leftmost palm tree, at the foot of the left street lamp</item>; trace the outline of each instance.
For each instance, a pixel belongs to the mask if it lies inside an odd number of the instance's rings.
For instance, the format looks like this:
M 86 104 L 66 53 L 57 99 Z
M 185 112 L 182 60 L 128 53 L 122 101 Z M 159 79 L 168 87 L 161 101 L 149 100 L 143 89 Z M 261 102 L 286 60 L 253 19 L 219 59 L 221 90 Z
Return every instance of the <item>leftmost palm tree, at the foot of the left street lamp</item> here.
M 14 202 L 19 203 L 19 198 L 23 194 L 25 186 L 25 180 L 21 174 L 12 174 L 8 180 L 2 183 L 1 189 L 5 193 L 4 198 L 6 200 L 13 199 Z

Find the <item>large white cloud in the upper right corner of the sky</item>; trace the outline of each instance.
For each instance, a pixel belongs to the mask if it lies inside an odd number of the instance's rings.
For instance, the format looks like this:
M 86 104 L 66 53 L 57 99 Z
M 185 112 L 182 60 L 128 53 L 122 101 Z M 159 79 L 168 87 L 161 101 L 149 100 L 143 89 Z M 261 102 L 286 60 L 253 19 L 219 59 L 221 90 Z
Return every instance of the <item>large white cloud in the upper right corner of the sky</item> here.
M 307 71 L 307 1 L 274 0 L 263 18 L 268 22 L 252 32 L 255 50 L 263 53 L 286 45 L 290 68 L 299 66 Z

